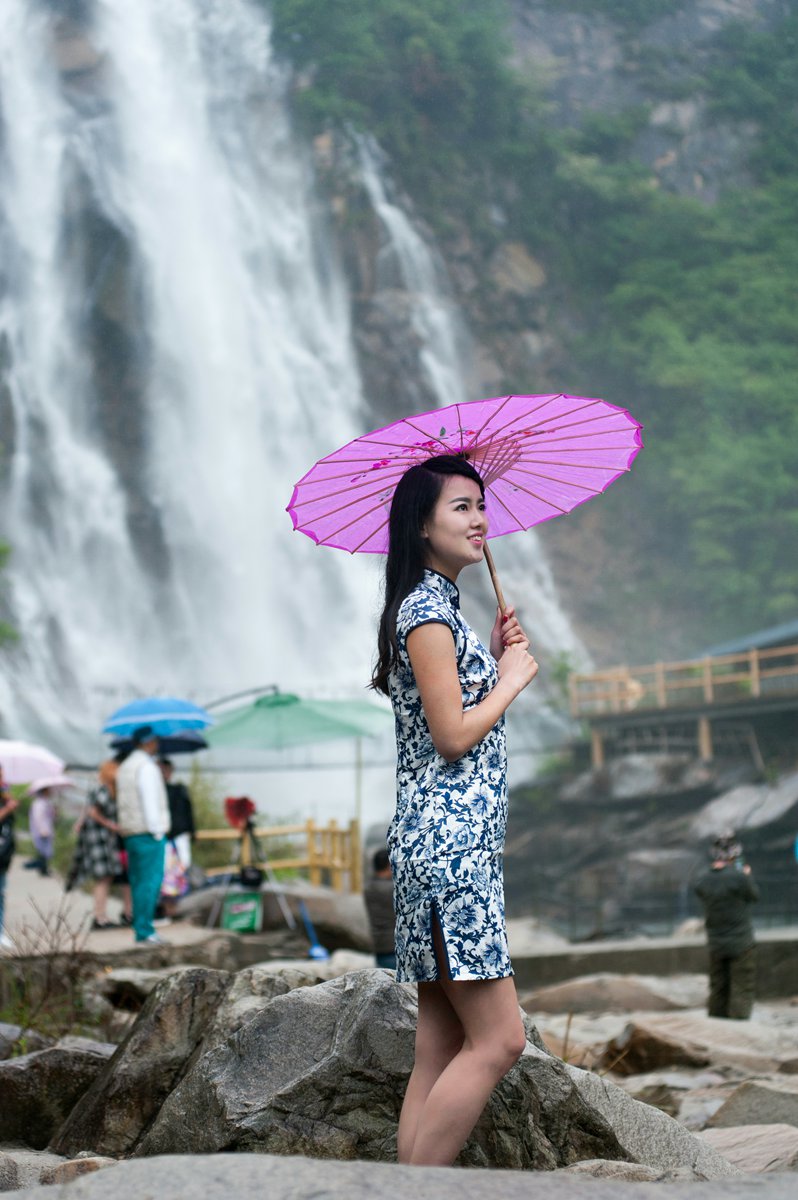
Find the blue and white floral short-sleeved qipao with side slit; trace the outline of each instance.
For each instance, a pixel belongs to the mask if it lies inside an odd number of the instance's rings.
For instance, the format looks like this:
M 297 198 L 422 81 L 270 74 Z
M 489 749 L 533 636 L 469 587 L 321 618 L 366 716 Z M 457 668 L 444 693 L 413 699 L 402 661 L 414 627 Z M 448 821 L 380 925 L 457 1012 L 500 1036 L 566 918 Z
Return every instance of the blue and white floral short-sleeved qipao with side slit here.
M 398 661 L 389 688 L 396 719 L 396 815 L 389 830 L 396 906 L 396 978 L 438 978 L 433 911 L 451 979 L 512 974 L 504 925 L 502 851 L 506 826 L 504 718 L 455 762 L 437 752 L 407 653 L 419 625 L 448 625 L 455 640 L 463 708 L 494 688 L 498 670 L 460 612 L 451 580 L 426 570 L 396 620 Z

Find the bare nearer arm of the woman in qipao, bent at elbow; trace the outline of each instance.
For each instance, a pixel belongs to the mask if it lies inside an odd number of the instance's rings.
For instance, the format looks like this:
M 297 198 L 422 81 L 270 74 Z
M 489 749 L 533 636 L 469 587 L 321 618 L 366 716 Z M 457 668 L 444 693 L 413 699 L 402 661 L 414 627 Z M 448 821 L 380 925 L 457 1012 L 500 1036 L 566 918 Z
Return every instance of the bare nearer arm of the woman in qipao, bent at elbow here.
M 538 674 L 538 664 L 526 647 L 509 646 L 498 664 L 496 688 L 479 704 L 464 709 L 455 642 L 448 625 L 436 623 L 412 630 L 407 653 L 432 743 L 446 762 L 455 762 L 481 742 Z

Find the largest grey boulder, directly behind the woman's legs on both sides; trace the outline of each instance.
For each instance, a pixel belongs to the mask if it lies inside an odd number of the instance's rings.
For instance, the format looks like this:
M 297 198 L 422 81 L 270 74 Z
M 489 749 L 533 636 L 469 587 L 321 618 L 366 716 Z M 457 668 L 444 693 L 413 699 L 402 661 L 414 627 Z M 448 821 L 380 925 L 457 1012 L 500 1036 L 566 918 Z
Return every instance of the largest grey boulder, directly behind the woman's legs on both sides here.
M 372 970 L 277 995 L 223 1039 L 217 1022 L 136 1154 L 257 1150 L 390 1160 L 415 1021 L 414 989 Z M 564 1066 L 529 1046 L 460 1160 L 552 1169 L 624 1157 Z

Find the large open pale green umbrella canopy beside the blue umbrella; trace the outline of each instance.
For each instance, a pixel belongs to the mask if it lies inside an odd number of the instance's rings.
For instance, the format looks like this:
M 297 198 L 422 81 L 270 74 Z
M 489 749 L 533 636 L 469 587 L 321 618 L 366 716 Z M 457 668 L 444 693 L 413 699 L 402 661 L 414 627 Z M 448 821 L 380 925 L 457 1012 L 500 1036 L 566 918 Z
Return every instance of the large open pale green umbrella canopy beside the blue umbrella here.
M 218 716 L 204 737 L 212 748 L 287 750 L 342 738 L 376 738 L 391 720 L 389 710 L 362 700 L 302 700 L 278 691 Z

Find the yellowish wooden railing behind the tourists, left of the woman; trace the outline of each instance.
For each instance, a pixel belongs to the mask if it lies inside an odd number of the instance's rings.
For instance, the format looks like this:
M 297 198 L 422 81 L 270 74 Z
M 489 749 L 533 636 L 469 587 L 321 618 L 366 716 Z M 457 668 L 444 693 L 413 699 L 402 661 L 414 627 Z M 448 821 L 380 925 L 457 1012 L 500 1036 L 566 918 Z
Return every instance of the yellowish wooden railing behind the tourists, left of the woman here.
M 325 826 L 305 821 L 304 824 L 264 826 L 252 833 L 271 870 L 306 871 L 311 883 L 329 882 L 336 892 L 362 890 L 360 828 L 356 821 L 346 827 L 338 826 L 337 821 Z M 198 841 L 239 842 L 238 847 L 230 846 L 230 860 L 226 866 L 205 868 L 205 875 L 229 875 L 239 866 L 258 864 L 258 845 L 253 846 L 240 829 L 199 829 L 194 836 Z M 282 844 L 276 847 L 282 857 L 271 857 L 269 840 L 272 839 Z M 299 853 L 286 856 L 287 841 L 299 842 L 293 847 Z

